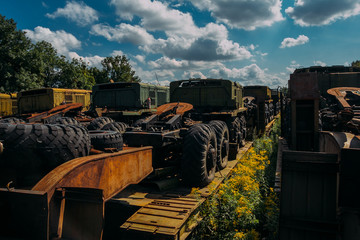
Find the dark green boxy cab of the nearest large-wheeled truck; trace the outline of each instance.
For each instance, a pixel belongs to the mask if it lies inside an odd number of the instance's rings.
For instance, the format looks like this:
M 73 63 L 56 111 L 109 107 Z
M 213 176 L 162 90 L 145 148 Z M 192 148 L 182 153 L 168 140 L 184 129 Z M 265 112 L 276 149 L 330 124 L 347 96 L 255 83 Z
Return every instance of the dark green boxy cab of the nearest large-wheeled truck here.
M 170 101 L 186 102 L 195 109 L 234 110 L 243 107 L 243 88 L 230 80 L 189 79 L 170 83 Z

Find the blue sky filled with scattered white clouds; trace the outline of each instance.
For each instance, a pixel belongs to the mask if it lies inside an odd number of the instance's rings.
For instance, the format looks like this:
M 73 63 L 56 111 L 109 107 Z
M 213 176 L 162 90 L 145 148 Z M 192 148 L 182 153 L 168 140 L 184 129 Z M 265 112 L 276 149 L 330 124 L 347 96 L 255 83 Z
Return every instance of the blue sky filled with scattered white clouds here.
M 360 0 L 0 0 L 34 43 L 101 68 L 126 55 L 142 82 L 222 78 L 286 86 L 301 67 L 360 60 Z

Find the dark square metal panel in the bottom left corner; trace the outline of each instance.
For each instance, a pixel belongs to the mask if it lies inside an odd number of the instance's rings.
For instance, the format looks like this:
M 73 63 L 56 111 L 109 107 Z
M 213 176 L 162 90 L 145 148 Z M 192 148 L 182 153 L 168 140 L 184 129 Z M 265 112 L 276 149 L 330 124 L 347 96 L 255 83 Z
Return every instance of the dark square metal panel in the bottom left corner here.
M 0 188 L 0 239 L 48 239 L 46 192 Z

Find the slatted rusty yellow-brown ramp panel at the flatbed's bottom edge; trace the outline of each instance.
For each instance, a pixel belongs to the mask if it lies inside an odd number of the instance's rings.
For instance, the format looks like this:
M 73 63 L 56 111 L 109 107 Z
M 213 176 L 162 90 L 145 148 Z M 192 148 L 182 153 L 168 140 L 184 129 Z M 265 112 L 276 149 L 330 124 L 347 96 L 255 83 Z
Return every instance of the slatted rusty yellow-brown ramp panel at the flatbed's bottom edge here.
M 163 197 L 154 199 L 132 215 L 122 226 L 126 236 L 159 236 L 180 239 L 184 225 L 203 202 L 194 198 Z

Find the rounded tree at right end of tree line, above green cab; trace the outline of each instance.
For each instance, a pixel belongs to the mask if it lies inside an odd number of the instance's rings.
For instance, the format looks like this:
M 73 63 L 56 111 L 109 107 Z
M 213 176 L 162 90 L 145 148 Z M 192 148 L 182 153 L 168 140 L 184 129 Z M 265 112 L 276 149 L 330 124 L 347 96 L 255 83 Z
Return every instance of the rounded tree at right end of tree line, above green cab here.
M 125 55 L 106 57 L 101 61 L 103 71 L 107 78 L 97 79 L 97 83 L 109 82 L 110 79 L 114 82 L 140 82 L 141 79 L 135 76 L 135 71 L 132 70 L 129 59 Z

